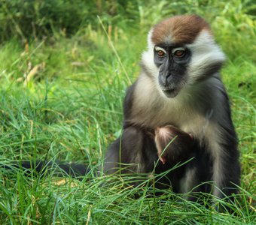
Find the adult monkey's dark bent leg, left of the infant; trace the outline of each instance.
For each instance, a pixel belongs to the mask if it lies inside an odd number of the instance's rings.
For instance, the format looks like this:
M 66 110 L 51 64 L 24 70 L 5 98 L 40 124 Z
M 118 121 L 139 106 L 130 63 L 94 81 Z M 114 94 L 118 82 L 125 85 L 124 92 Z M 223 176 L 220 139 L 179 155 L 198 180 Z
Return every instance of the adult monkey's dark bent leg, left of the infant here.
M 154 160 L 157 160 L 154 139 L 140 127 L 130 126 L 108 148 L 104 172 L 150 172 Z

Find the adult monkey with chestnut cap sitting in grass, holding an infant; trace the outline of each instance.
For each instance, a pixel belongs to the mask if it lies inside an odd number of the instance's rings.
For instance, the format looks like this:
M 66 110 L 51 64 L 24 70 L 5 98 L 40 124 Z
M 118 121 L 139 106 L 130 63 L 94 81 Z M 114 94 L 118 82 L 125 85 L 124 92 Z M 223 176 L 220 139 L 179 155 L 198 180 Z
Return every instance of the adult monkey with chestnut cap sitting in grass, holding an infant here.
M 224 60 L 209 24 L 197 15 L 171 17 L 151 28 L 142 71 L 126 92 L 123 134 L 108 150 L 105 172 L 122 163 L 133 164 L 133 172 L 150 172 L 158 160 L 152 130 L 173 125 L 194 138 L 184 173 L 175 178 L 172 172 L 175 191 L 187 193 L 199 185 L 197 191 L 219 198 L 236 193 L 239 151 L 219 74 Z M 158 168 L 162 171 L 163 163 Z M 203 184 L 207 181 L 213 187 Z

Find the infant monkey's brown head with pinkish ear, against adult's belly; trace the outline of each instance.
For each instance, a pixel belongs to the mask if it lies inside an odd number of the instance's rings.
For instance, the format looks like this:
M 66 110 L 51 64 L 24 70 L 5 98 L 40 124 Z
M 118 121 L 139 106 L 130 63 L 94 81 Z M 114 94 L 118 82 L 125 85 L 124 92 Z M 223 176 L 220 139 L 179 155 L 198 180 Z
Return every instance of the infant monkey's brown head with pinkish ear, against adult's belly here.
M 186 160 L 193 145 L 193 136 L 168 125 L 154 130 L 157 154 L 163 164 Z

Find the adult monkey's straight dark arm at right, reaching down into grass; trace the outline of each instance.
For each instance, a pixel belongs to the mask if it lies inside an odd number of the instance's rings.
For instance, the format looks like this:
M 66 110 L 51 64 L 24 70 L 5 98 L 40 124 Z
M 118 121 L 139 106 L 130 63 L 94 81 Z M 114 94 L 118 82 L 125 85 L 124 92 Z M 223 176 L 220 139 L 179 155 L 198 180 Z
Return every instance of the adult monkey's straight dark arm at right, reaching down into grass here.
M 208 140 L 212 148 L 213 157 L 213 180 L 218 188 L 215 188 L 214 194 L 218 197 L 231 196 L 232 193 L 237 193 L 236 185 L 240 184 L 240 164 L 239 151 L 236 132 L 233 126 L 230 112 L 230 103 L 224 86 L 219 88 L 220 101 L 219 108 L 222 110 L 222 119 L 215 122 L 215 132 L 212 139 L 215 143 Z M 219 118 L 221 118 L 219 116 Z M 211 130 L 212 131 L 212 130 Z

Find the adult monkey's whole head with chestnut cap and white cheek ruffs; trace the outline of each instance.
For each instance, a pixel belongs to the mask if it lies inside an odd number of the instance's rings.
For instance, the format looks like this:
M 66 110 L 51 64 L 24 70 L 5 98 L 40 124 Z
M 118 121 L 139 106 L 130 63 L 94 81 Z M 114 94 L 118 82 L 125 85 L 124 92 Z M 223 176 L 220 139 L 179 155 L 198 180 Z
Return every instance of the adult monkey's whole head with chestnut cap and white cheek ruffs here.
M 190 95 L 190 87 L 197 90 L 194 87 L 217 73 L 224 59 L 206 21 L 185 15 L 163 20 L 151 29 L 142 68 L 160 93 L 175 98 L 186 90 Z

